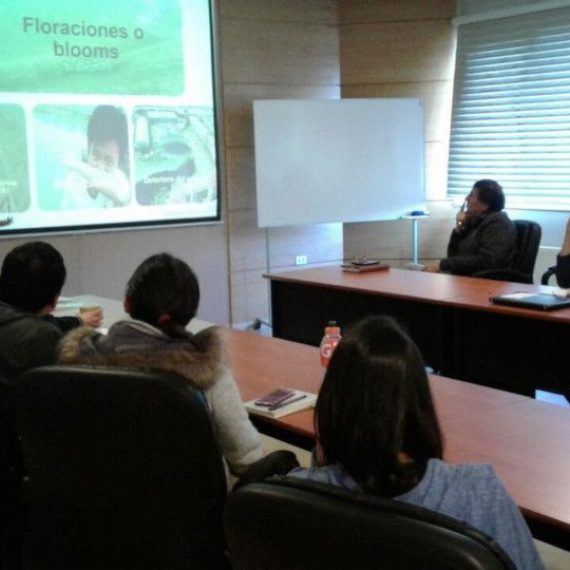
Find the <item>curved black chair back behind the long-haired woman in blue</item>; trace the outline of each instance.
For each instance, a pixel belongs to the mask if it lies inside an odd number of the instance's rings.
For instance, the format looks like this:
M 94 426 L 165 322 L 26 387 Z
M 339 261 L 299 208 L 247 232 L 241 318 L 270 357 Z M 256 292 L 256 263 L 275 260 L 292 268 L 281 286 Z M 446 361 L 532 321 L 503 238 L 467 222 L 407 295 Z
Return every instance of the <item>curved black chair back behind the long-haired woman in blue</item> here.
M 505 570 L 490 538 L 450 517 L 292 477 L 230 495 L 224 524 L 234 570 Z

